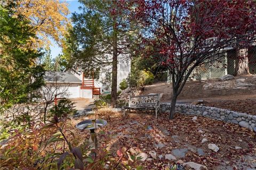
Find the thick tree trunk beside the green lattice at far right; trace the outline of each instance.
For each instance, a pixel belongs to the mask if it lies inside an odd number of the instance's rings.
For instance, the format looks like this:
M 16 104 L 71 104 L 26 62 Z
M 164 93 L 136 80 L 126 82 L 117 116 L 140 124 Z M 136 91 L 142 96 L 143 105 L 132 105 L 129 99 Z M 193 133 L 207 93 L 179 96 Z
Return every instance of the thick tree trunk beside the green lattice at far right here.
M 247 49 L 238 49 L 237 55 L 239 58 L 236 60 L 236 75 L 250 74 Z

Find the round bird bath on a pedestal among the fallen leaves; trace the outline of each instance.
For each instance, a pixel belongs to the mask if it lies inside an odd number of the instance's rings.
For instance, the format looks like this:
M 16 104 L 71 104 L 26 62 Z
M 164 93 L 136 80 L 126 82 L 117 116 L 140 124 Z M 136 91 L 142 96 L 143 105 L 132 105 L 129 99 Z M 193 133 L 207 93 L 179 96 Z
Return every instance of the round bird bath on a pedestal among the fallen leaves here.
M 90 130 L 91 137 L 89 139 L 90 146 L 95 149 L 97 146 L 97 139 L 95 138 L 95 129 L 103 127 L 107 124 L 107 121 L 102 119 L 88 119 L 76 124 L 76 128 L 79 130 Z

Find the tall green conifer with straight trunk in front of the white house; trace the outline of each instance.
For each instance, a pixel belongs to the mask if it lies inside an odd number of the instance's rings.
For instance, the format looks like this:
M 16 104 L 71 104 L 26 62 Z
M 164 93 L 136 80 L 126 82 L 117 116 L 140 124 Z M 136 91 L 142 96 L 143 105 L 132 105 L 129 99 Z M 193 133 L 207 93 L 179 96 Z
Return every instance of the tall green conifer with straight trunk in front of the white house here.
M 135 24 L 119 1 L 80 1 L 82 13 L 73 13 L 73 29 L 67 38 L 69 64 L 89 75 L 103 66 L 111 67 L 111 106 L 117 98 L 117 63 L 129 57 L 136 38 Z

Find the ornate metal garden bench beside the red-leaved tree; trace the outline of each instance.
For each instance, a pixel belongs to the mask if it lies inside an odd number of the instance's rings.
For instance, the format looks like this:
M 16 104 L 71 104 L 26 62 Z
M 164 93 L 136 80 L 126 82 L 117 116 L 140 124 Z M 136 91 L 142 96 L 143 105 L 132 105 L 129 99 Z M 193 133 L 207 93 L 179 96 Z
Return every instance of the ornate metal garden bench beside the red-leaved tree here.
M 129 96 L 129 106 L 122 107 L 123 115 L 125 116 L 125 110 L 145 110 L 145 109 L 154 109 L 156 112 L 160 111 L 159 105 L 159 94 L 154 95 L 145 95 L 145 96 Z

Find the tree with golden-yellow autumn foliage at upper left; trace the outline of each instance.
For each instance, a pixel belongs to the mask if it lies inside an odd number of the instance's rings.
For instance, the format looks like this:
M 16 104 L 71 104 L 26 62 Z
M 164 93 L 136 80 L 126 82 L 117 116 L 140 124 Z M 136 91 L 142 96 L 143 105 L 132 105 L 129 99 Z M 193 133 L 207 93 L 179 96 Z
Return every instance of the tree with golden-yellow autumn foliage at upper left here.
M 13 0 L 8 0 L 13 3 Z M 35 47 L 49 47 L 51 39 L 61 46 L 63 36 L 67 33 L 70 22 L 66 17 L 69 13 L 67 3 L 58 0 L 17 0 L 15 15 L 23 15 L 31 21 L 38 39 L 33 39 Z

